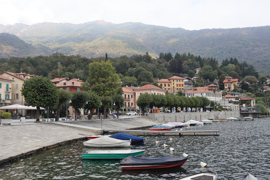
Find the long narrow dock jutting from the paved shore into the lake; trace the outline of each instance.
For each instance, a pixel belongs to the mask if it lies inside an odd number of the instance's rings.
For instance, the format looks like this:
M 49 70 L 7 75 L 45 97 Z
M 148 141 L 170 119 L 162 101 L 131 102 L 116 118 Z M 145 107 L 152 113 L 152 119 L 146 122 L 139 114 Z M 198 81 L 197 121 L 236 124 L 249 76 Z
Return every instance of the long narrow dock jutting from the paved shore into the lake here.
M 165 136 L 219 136 L 218 130 L 192 130 L 192 131 L 149 131 L 149 130 L 117 130 L 117 129 L 104 129 L 103 132 L 113 133 L 113 132 L 122 132 L 122 133 L 150 133 L 150 134 L 162 134 Z

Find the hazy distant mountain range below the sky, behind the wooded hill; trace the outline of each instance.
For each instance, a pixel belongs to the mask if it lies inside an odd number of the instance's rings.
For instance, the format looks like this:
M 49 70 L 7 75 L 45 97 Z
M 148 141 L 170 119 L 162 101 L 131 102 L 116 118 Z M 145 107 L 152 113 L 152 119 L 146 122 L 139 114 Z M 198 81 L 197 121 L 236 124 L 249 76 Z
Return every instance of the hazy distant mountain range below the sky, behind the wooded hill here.
M 158 57 L 160 52 L 171 52 L 173 55 L 176 52 L 190 52 L 201 57 L 214 57 L 219 62 L 236 57 L 240 62 L 254 65 L 260 73 L 270 75 L 270 26 L 190 31 L 133 22 L 44 22 L 31 26 L 0 25 L 0 32 L 14 34 L 34 47 L 42 45 L 40 53 L 50 53 L 45 47 L 51 52 L 88 58 L 105 56 L 105 53 L 116 57 L 144 54 L 147 51 L 153 57 Z M 0 46 L 3 46 L 2 41 Z M 0 57 L 12 52 L 3 54 L 0 50 Z

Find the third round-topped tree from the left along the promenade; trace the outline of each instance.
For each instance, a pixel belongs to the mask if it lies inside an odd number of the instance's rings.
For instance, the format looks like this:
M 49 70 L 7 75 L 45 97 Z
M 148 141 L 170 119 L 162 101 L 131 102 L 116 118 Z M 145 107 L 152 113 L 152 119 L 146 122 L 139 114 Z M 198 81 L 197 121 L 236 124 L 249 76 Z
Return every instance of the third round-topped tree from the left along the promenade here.
M 71 105 L 75 111 L 75 121 L 77 121 L 77 109 L 84 108 L 88 99 L 88 94 L 83 91 L 74 91 L 71 94 Z

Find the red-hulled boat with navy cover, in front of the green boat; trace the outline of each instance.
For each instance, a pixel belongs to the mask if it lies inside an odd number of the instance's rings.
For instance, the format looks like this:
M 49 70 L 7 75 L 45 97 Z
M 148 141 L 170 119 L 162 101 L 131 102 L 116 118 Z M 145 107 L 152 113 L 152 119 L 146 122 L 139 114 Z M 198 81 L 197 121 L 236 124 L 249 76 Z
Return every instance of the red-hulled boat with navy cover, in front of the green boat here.
M 135 157 L 128 156 L 120 162 L 122 169 L 158 169 L 181 167 L 188 157 Z

